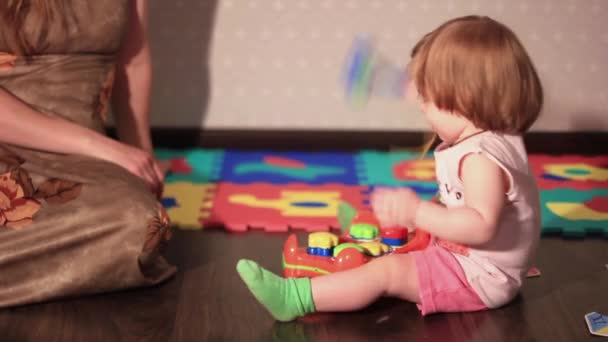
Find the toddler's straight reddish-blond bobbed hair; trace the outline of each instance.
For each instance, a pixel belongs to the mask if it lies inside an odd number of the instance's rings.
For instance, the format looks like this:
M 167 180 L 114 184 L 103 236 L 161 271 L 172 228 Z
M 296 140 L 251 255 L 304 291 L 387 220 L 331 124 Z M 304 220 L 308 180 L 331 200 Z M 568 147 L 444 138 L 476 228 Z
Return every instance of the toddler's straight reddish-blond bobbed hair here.
M 409 72 L 423 101 L 485 130 L 523 133 L 543 103 L 519 39 L 488 17 L 456 18 L 426 34 L 412 50 Z

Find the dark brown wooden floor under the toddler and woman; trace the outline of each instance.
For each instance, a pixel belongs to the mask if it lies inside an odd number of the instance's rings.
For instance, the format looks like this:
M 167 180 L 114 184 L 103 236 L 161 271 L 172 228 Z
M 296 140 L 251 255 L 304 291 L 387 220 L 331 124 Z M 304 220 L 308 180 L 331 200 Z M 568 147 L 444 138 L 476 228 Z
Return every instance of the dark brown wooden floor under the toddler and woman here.
M 608 239 L 544 238 L 538 267 L 505 308 L 422 318 L 383 299 L 361 312 L 275 323 L 239 280 L 239 258 L 280 272 L 285 234 L 176 231 L 163 285 L 0 310 L 0 341 L 598 341 L 583 315 L 608 313 Z M 300 237 L 303 241 L 303 235 Z M 1 276 L 1 275 L 0 275 Z

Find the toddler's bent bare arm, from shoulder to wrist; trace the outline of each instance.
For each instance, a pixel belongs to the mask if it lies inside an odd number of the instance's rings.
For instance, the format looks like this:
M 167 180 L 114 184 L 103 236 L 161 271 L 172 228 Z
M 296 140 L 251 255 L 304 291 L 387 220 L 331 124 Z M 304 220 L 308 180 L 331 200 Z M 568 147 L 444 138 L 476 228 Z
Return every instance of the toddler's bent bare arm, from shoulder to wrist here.
M 440 239 L 466 245 L 480 245 L 492 239 L 506 202 L 505 172 L 488 157 L 470 154 L 461 161 L 465 206 L 448 209 L 421 201 L 415 226 Z

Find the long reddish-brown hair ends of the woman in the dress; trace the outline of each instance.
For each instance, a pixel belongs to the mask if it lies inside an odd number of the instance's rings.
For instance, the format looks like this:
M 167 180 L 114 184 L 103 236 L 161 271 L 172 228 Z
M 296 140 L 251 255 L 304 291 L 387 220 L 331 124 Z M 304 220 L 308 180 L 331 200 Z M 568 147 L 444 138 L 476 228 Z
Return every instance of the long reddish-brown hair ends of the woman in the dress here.
M 66 28 L 62 18 L 69 10 L 66 0 L 0 0 L 0 36 L 10 52 L 35 54 L 45 46 L 49 23 L 60 20 Z

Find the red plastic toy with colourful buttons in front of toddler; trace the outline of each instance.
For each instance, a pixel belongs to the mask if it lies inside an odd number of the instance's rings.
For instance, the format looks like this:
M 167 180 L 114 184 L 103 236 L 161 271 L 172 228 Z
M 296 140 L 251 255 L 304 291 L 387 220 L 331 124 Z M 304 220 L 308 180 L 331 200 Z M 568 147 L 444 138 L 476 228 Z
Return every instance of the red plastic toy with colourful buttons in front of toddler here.
M 392 253 L 422 250 L 430 235 L 420 229 L 380 227 L 371 211 L 358 212 L 346 203 L 339 206 L 340 236 L 316 232 L 308 246 L 299 247 L 294 234 L 283 247 L 283 274 L 287 278 L 316 277 L 361 266 L 373 258 Z

